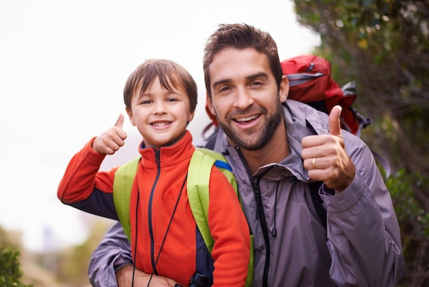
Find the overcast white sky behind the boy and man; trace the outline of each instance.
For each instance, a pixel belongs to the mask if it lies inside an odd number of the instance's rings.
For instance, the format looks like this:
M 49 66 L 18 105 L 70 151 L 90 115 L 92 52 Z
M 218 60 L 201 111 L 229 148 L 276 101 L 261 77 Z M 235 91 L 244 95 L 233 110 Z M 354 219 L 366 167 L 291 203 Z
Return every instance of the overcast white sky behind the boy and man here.
M 35 251 L 43 230 L 56 246 L 84 240 L 88 216 L 60 203 L 58 183 L 73 154 L 125 112 L 127 77 L 147 58 L 188 69 L 200 93 L 189 126 L 197 140 L 208 123 L 204 43 L 219 23 L 243 22 L 271 33 L 280 60 L 319 45 L 290 0 L 0 0 L 0 225 Z M 134 152 L 125 122 L 123 149 Z

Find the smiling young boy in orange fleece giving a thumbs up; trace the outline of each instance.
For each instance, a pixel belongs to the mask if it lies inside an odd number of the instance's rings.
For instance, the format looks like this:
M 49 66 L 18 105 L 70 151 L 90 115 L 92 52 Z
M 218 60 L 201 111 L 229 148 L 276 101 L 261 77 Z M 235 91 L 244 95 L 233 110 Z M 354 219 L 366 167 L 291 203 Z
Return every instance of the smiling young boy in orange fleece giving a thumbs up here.
M 147 60 L 127 79 L 123 97 L 130 121 L 143 137 L 130 200 L 136 268 L 185 286 L 195 271 L 213 286 L 244 286 L 249 228 L 228 179 L 212 168 L 208 209 L 215 240 L 212 259 L 188 203 L 187 171 L 195 147 L 186 126 L 197 104 L 195 80 L 173 61 Z M 62 203 L 118 220 L 112 197 L 117 168 L 99 172 L 99 167 L 106 154 L 123 146 L 123 120 L 120 115 L 114 126 L 73 156 L 58 187 Z

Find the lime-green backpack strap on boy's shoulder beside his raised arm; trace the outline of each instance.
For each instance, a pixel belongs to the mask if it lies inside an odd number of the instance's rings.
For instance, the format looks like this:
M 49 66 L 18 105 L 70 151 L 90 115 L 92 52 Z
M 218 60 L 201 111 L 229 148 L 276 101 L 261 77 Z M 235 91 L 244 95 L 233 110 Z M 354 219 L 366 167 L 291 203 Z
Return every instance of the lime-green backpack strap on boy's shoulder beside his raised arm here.
M 125 231 L 125 235 L 130 241 L 130 198 L 134 178 L 136 177 L 138 162 L 140 157 L 136 157 L 121 165 L 114 173 L 113 180 L 113 203 L 117 209 L 119 221 Z M 130 241 L 131 242 L 131 241 Z

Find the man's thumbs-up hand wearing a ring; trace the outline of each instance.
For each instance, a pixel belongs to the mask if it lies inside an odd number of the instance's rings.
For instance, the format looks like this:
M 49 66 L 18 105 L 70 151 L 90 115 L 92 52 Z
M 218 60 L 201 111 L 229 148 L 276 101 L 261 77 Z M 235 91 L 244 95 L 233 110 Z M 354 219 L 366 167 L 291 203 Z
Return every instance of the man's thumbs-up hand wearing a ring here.
M 308 176 L 342 192 L 354 179 L 355 168 L 347 152 L 341 132 L 341 106 L 334 106 L 329 115 L 329 135 L 310 135 L 302 139 L 301 157 Z

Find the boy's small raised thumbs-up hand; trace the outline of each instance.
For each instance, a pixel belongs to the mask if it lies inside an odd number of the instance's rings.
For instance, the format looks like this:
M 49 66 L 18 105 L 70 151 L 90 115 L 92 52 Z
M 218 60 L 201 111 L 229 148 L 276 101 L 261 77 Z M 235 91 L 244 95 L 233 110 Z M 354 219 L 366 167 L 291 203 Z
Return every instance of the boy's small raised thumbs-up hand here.
M 104 133 L 96 137 L 91 148 L 100 154 L 114 154 L 124 145 L 127 133 L 122 130 L 123 114 L 119 115 L 117 122 Z

